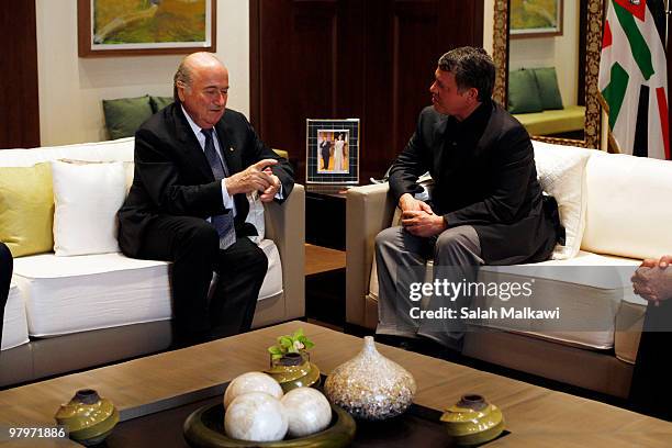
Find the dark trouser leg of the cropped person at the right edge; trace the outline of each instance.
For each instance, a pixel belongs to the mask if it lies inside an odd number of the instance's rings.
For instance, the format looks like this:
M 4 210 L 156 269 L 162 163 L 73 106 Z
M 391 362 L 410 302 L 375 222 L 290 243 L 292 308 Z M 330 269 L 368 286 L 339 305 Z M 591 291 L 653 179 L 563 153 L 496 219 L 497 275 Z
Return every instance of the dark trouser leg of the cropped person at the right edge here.
M 672 421 L 671 329 L 672 300 L 647 306 L 630 385 L 630 402 L 637 412 L 667 421 Z

